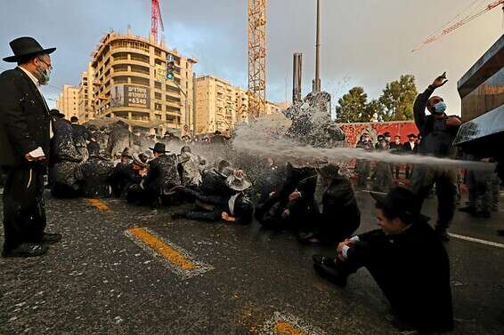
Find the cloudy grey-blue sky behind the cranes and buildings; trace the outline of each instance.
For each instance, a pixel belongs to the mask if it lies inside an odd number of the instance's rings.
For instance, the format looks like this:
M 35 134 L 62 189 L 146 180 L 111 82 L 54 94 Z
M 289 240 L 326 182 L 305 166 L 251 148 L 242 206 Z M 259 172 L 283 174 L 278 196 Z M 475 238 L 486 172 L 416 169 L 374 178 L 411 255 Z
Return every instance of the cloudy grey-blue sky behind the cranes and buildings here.
M 247 0 L 160 0 L 168 47 L 199 59 L 198 74 L 247 86 Z M 2 0 L 0 58 L 9 42 L 34 36 L 53 53 L 49 102 L 63 84 L 78 84 L 90 52 L 110 29 L 148 36 L 150 0 Z M 268 1 L 267 99 L 290 100 L 292 53 L 304 54 L 304 94 L 314 72 L 315 0 Z M 438 28 L 492 0 L 321 0 L 322 88 L 337 99 L 354 85 L 376 98 L 402 74 L 423 90 L 447 71 L 439 92 L 459 114 L 457 81 L 503 33 L 500 8 L 486 12 L 419 52 L 411 49 Z M 471 4 L 474 6 L 470 7 Z M 467 9 L 468 7 L 468 9 Z M 460 15 L 461 19 L 464 15 Z M 0 61 L 0 69 L 12 64 Z

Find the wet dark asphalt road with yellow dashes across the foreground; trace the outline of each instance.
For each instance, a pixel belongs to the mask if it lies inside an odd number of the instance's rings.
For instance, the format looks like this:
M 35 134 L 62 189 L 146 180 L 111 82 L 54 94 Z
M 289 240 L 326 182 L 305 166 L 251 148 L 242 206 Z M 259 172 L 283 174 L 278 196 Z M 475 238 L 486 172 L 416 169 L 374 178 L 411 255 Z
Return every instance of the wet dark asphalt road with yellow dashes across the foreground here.
M 359 232 L 375 228 L 370 195 L 357 196 Z M 0 259 L 0 334 L 399 333 L 367 271 L 345 289 L 314 273 L 311 256 L 333 248 L 256 223 L 172 221 L 181 208 L 48 199 L 46 209 L 63 240 L 41 258 Z M 492 219 L 458 212 L 451 227 L 456 334 L 504 329 L 503 209 Z M 435 201 L 425 210 L 434 215 Z

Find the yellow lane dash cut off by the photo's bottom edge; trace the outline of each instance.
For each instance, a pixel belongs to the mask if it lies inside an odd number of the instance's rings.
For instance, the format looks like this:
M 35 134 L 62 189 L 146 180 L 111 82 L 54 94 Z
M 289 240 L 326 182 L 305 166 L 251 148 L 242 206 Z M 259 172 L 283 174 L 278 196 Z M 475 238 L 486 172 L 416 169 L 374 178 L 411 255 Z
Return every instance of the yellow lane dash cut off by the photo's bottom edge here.
M 275 312 L 270 320 L 264 323 L 259 331 L 261 335 L 325 335 L 320 328 L 313 327 L 309 323 L 294 315 Z

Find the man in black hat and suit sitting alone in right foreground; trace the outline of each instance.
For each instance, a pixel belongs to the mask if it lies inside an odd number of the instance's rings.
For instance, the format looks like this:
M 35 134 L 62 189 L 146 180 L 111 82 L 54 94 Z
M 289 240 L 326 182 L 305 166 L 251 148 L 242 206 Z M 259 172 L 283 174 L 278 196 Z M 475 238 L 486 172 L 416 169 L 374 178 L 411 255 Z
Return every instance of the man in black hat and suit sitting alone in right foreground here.
M 380 229 L 337 245 L 337 257 L 313 256 L 313 267 L 345 286 L 348 275 L 366 267 L 388 299 L 393 323 L 402 331 L 453 328 L 450 261 L 443 243 L 415 206 L 415 195 L 394 187 L 376 201 Z

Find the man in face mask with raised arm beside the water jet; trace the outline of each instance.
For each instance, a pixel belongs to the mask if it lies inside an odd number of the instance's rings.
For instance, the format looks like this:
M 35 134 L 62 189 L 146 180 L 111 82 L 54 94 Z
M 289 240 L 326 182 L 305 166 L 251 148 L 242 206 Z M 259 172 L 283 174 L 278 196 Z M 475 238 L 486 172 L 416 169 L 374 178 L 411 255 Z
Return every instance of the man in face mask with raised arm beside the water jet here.
M 446 73 L 420 93 L 413 105 L 415 124 L 419 128 L 422 140 L 419 154 L 442 158 L 453 158 L 456 154 L 451 145 L 461 121 L 458 116 L 446 115 L 446 103 L 439 96 L 432 96 L 435 90 L 446 84 Z M 432 96 L 432 97 L 431 97 Z M 426 116 L 426 108 L 430 115 Z M 451 168 L 417 164 L 412 177 L 412 189 L 417 195 L 419 209 L 435 185 L 437 195 L 437 222 L 435 231 L 443 241 L 450 239 L 447 229 L 455 212 L 457 197 L 457 171 Z

